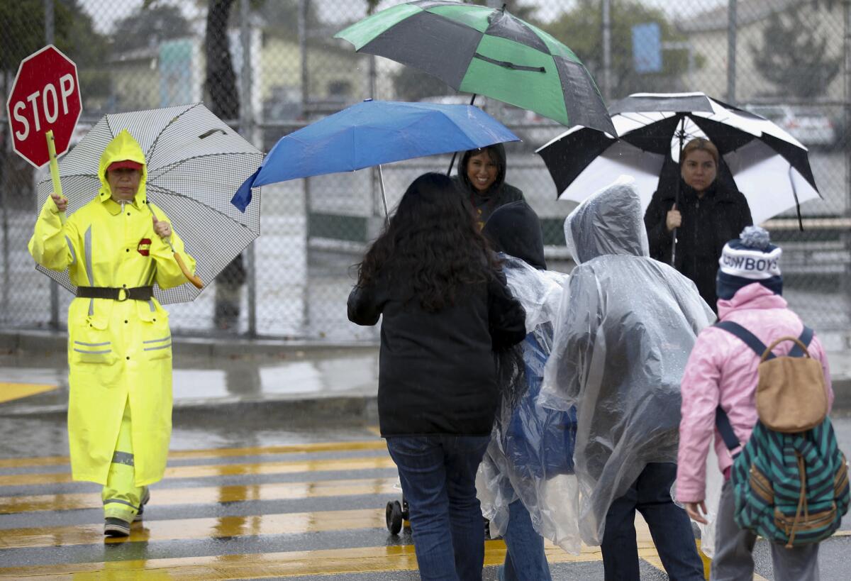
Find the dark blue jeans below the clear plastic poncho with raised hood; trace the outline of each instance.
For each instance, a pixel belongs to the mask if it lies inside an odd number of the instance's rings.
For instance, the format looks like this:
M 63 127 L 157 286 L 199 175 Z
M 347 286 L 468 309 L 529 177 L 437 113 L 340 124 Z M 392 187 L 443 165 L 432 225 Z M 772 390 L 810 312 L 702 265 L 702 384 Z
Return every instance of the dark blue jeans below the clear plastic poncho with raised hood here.
M 677 464 L 649 463 L 625 495 L 609 507 L 601 546 L 606 581 L 639 580 L 636 509 L 647 521 L 671 581 L 703 581 L 703 563 L 694 543 L 691 521 L 671 499 L 671 485 L 676 478 Z

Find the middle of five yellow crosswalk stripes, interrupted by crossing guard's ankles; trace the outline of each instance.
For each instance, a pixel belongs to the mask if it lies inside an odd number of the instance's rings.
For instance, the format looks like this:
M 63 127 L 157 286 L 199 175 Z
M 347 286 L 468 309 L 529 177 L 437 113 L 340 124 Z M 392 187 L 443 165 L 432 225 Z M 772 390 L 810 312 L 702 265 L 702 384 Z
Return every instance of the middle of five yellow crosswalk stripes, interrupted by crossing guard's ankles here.
M 204 486 L 200 488 L 151 489 L 151 502 L 157 506 L 174 504 L 235 503 L 247 500 L 291 500 L 327 498 L 359 494 L 392 494 L 397 490 L 396 478 L 361 480 L 315 480 L 312 482 L 279 482 L 239 486 Z M 0 497 L 0 514 L 39 510 L 100 509 L 99 493 L 43 494 L 37 496 Z

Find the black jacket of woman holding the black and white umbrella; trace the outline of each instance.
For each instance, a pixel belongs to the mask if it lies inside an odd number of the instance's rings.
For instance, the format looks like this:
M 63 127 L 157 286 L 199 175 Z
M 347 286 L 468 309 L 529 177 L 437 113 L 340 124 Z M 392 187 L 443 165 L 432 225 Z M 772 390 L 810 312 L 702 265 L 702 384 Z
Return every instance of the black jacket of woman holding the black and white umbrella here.
M 680 179 L 677 210 L 683 224 L 677 228 L 677 253 L 674 267 L 697 285 L 703 300 L 717 312 L 715 278 L 721 250 L 729 240 L 739 238 L 745 226 L 751 226 L 751 209 L 745 196 L 734 187 L 716 179 L 698 198 L 694 188 Z M 671 263 L 671 233 L 665 226 L 668 210 L 674 204 L 673 188 L 660 188 L 653 194 L 644 213 L 644 226 L 650 244 L 650 256 Z

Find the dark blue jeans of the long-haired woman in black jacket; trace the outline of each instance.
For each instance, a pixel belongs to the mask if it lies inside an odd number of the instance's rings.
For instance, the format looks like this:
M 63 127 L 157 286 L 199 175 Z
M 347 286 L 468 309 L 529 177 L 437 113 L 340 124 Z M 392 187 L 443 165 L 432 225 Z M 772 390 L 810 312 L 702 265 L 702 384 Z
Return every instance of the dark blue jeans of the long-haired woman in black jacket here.
M 423 581 L 481 581 L 484 521 L 476 470 L 489 436 L 391 436 Z

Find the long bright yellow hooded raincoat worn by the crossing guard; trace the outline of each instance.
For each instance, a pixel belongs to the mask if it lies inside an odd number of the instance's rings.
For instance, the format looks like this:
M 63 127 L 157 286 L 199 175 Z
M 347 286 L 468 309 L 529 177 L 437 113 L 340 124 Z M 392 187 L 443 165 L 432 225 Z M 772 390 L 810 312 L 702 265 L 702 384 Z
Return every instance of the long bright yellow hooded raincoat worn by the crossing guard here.
M 111 198 L 106 168 L 114 161 L 143 165 L 132 202 Z M 77 286 L 127 287 L 186 283 L 171 249 L 153 229 L 146 197 L 147 168 L 139 144 L 122 131 L 100 158 L 100 193 L 63 224 L 52 198 L 45 202 L 30 239 L 43 267 L 65 270 Z M 186 267 L 195 261 L 172 232 L 171 244 Z M 171 333 L 168 313 L 156 299 L 116 301 L 77 297 L 68 308 L 68 440 L 74 480 L 106 484 L 121 427 L 130 406 L 135 485 L 163 478 L 171 438 Z

